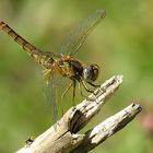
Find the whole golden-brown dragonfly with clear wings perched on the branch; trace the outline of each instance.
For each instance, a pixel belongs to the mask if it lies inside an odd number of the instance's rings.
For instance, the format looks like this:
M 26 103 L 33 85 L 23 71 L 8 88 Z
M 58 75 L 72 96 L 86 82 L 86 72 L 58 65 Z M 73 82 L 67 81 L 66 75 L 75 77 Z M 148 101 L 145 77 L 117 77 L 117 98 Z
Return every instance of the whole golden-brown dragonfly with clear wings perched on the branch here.
M 61 99 L 63 99 L 64 95 L 72 87 L 72 105 L 74 105 L 76 83 L 79 83 L 79 90 L 82 96 L 84 96 L 82 86 L 90 93 L 93 93 L 93 91 L 89 85 L 91 85 L 91 87 L 98 86 L 94 82 L 98 76 L 99 67 L 96 63 L 82 63 L 74 57 L 74 55 L 80 50 L 87 35 L 96 27 L 102 19 L 105 17 L 105 14 L 106 12 L 104 10 L 96 10 L 76 24 L 61 44 L 60 54 L 42 51 L 21 37 L 7 23 L 0 21 L 0 30 L 12 37 L 14 42 L 16 42 L 30 55 L 30 57 L 45 68 L 43 76 L 47 82 L 46 98 L 48 98 L 47 101 L 51 104 L 54 118 L 57 118 L 58 114 L 57 75 L 71 81 L 69 86 L 62 93 Z

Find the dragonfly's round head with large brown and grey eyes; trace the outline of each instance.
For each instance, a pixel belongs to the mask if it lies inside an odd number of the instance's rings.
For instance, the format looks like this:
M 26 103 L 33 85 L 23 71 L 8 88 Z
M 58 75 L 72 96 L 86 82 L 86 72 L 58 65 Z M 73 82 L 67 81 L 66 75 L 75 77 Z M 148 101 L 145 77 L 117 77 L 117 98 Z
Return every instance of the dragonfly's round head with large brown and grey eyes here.
M 82 74 L 83 80 L 86 82 L 94 82 L 98 76 L 98 72 L 99 67 L 97 64 L 84 64 Z

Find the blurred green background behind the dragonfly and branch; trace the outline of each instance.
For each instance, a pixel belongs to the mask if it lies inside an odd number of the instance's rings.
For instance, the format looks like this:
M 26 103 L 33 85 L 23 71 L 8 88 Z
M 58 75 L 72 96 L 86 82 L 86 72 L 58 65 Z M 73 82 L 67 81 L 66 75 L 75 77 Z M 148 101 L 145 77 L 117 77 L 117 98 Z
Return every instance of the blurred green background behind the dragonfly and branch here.
M 78 58 L 101 67 L 98 83 L 123 74 L 123 84 L 83 130 L 132 102 L 144 107 L 153 101 L 152 0 L 0 0 L 0 20 L 44 51 L 57 51 L 69 31 L 97 9 L 106 17 L 87 37 Z M 15 152 L 28 136 L 51 125 L 42 90 L 42 67 L 0 32 L 0 152 Z M 81 102 L 82 97 L 76 97 Z M 68 107 L 71 104 L 67 102 Z M 82 131 L 82 132 L 83 132 Z M 93 153 L 148 153 L 141 116 Z

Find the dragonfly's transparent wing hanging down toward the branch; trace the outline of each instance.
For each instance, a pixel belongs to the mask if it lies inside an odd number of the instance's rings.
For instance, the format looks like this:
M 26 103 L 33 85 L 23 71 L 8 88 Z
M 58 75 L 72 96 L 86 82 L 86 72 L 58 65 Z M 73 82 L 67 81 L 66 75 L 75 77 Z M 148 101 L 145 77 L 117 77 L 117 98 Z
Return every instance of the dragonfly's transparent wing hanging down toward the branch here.
M 46 82 L 44 82 L 43 92 L 45 95 L 45 101 L 51 113 L 54 123 L 58 120 L 58 97 L 57 97 L 57 86 L 56 86 L 56 75 Z

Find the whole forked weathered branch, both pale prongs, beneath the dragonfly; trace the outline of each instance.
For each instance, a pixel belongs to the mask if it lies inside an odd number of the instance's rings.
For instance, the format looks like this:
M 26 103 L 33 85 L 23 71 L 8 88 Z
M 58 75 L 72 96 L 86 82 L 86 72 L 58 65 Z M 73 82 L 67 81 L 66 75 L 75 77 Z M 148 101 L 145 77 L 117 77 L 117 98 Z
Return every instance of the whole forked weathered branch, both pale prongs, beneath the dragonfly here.
M 131 104 L 87 132 L 76 133 L 99 111 L 106 99 L 121 83 L 122 75 L 115 75 L 107 80 L 87 99 L 70 108 L 56 125 L 17 153 L 84 153 L 94 149 L 122 129 L 141 111 L 139 105 Z

